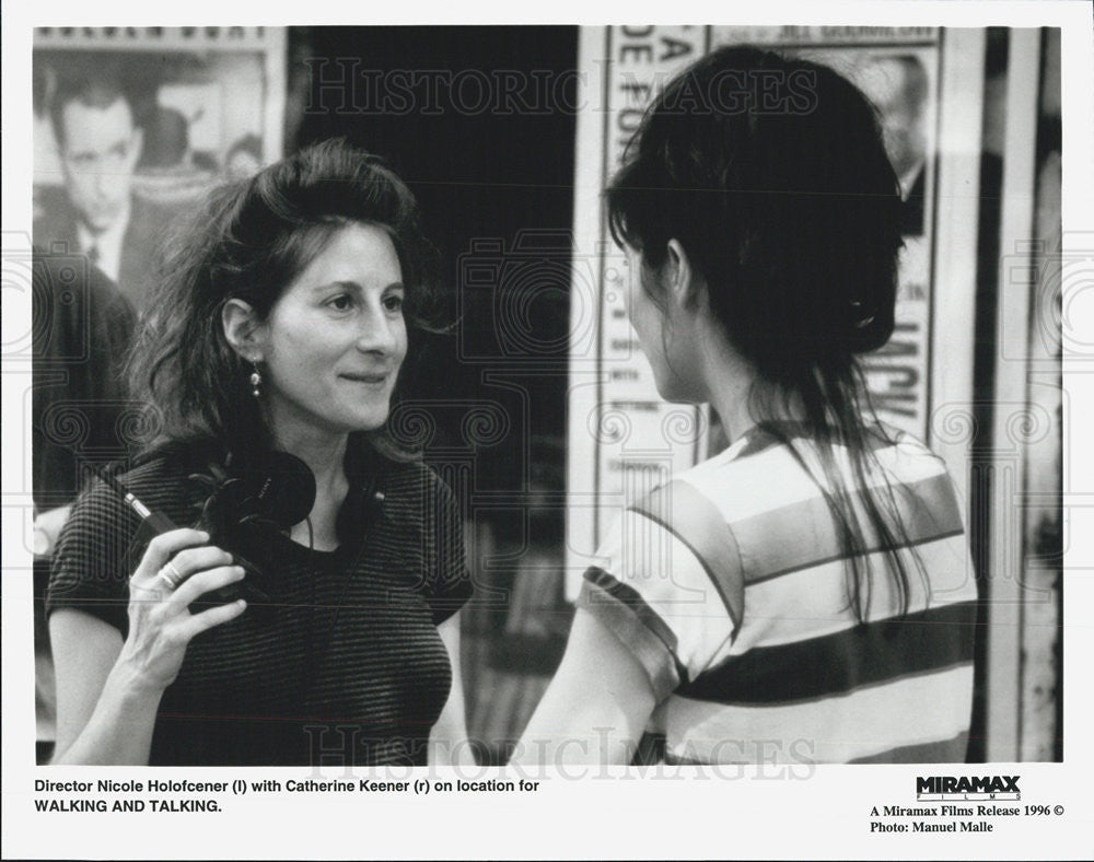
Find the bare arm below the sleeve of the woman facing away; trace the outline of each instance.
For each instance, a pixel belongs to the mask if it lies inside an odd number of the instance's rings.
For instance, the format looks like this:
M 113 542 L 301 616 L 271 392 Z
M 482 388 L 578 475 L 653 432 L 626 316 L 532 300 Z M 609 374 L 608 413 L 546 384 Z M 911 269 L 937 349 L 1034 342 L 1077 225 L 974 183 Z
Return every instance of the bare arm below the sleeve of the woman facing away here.
M 562 663 L 511 762 L 629 764 L 655 706 L 642 665 L 604 624 L 579 609 Z

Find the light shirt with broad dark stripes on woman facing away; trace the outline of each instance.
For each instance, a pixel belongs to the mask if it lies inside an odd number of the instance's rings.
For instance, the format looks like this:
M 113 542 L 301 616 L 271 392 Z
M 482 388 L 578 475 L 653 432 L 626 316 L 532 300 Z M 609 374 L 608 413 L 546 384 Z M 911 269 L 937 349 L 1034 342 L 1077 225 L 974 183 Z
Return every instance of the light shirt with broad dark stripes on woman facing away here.
M 759 427 L 629 508 L 580 605 L 630 649 L 675 762 L 961 762 L 976 582 L 940 458 L 887 430 L 874 446 L 907 543 L 909 602 L 851 491 L 871 576 L 858 625 L 816 449 Z M 801 457 L 795 457 L 794 453 Z M 854 489 L 847 453 L 835 466 Z M 808 473 L 805 469 L 808 466 Z M 919 562 L 917 563 L 916 556 Z M 921 568 L 920 568 L 921 567 Z

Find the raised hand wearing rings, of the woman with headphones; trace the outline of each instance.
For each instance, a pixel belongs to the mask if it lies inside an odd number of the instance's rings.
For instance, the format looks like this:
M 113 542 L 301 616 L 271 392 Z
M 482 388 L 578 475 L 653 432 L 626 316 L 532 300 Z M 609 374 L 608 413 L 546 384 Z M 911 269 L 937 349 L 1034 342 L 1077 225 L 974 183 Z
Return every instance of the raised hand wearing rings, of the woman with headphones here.
M 149 543 L 129 580 L 129 637 L 116 669 L 124 668 L 136 688 L 165 689 L 178 675 L 190 639 L 246 608 L 241 598 L 200 614 L 189 611 L 203 593 L 243 579 L 232 555 L 206 545 L 208 540 L 209 534 L 197 529 L 163 533 Z

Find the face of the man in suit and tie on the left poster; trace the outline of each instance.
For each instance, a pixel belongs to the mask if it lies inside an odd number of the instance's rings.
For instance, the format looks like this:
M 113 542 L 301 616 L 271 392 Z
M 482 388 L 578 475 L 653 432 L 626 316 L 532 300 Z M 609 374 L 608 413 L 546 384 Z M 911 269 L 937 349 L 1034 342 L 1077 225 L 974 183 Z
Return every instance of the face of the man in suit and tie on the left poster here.
M 106 107 L 70 102 L 61 123 L 61 164 L 69 199 L 91 231 L 105 231 L 129 200 L 141 131 L 121 97 Z

